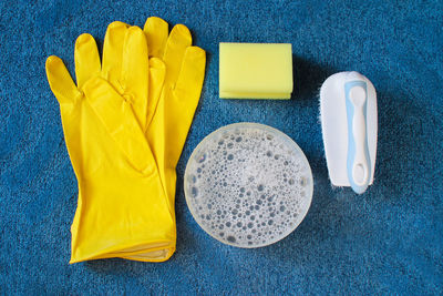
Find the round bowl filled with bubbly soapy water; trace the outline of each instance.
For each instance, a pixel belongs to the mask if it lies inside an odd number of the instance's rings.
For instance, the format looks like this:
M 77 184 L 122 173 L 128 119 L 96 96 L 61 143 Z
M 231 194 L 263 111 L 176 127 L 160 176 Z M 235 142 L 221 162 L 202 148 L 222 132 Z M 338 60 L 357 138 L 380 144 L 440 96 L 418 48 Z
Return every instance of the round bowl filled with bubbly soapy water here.
M 300 224 L 311 202 L 312 174 L 287 135 L 237 123 L 209 134 L 193 152 L 185 194 L 194 218 L 213 237 L 259 247 Z

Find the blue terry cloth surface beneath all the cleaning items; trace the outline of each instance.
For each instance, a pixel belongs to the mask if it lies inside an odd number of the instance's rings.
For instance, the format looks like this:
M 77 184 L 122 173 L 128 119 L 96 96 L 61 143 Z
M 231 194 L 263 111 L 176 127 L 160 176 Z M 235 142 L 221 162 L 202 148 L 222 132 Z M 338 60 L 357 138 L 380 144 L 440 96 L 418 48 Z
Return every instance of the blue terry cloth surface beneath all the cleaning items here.
M 0 294 L 441 294 L 443 289 L 442 1 L 1 1 Z M 73 73 L 83 32 L 150 16 L 184 23 L 207 51 L 207 72 L 181 162 L 177 252 L 166 263 L 102 259 L 69 265 L 76 181 L 48 55 Z M 218 98 L 218 42 L 290 42 L 290 101 Z M 328 178 L 318 91 L 346 70 L 375 85 L 375 181 L 363 195 Z M 281 242 L 223 245 L 193 220 L 183 174 L 217 127 L 259 122 L 287 133 L 313 173 L 311 208 Z

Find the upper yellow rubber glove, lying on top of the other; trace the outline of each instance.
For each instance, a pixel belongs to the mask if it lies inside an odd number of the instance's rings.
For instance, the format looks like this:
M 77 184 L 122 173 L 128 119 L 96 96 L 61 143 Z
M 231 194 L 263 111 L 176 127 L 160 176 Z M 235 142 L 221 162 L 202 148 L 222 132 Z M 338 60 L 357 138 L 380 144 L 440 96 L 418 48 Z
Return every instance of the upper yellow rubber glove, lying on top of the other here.
M 93 38 L 79 37 L 78 86 L 59 58 L 47 60 L 79 182 L 70 263 L 107 257 L 161 262 L 175 251 L 174 211 L 143 129 L 152 104 L 146 39 L 135 27 L 113 23 L 113 29 L 102 67 Z

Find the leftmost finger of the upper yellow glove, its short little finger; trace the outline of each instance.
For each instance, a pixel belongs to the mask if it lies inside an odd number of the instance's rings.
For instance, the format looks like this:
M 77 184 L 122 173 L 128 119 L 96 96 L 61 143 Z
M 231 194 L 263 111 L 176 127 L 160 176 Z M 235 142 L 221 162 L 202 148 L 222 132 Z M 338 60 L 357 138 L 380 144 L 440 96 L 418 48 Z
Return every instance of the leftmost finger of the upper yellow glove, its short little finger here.
M 81 95 L 63 61 L 55 55 L 47 59 L 49 85 L 60 104 L 73 103 Z

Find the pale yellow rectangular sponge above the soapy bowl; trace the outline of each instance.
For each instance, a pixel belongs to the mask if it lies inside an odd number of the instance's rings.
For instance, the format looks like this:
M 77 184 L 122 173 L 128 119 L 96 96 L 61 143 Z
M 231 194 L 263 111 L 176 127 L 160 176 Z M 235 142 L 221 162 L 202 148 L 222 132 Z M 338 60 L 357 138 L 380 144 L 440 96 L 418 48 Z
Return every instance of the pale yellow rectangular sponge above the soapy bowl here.
M 219 44 L 223 99 L 290 99 L 292 47 L 287 43 Z

